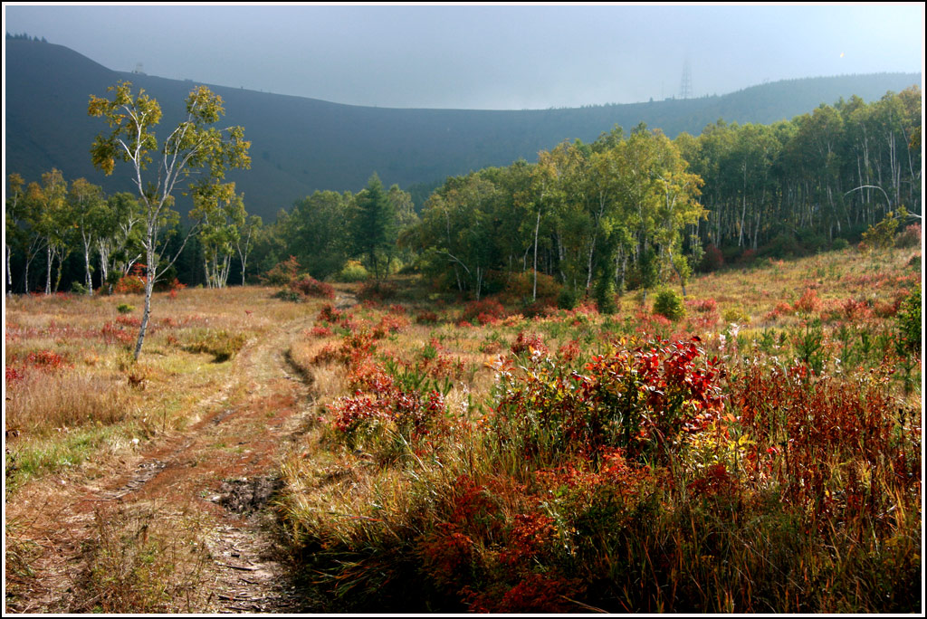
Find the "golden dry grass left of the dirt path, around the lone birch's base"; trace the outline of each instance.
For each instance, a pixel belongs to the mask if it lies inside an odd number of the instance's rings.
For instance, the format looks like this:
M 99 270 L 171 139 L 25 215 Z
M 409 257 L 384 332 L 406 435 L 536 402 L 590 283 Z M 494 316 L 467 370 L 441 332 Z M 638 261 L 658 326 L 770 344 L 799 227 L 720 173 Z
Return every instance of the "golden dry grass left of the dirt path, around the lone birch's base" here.
M 141 310 L 125 309 L 142 300 L 7 299 L 7 462 L 16 466 L 7 476 L 10 488 L 79 466 L 99 449 L 118 451 L 133 439 L 183 429 L 195 421 L 188 411 L 222 380 L 222 361 L 248 338 L 300 313 L 260 288 L 156 295 L 136 363 L 130 347 Z

